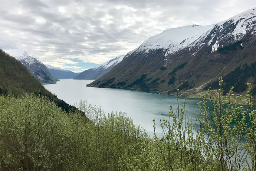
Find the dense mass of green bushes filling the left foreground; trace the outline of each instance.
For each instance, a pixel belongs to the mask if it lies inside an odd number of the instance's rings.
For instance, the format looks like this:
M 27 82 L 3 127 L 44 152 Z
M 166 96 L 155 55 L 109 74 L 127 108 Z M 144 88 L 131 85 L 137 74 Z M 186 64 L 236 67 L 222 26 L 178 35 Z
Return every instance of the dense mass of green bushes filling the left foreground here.
M 118 170 L 141 153 L 144 130 L 123 113 L 81 102 L 69 114 L 46 97 L 0 96 L 0 170 Z

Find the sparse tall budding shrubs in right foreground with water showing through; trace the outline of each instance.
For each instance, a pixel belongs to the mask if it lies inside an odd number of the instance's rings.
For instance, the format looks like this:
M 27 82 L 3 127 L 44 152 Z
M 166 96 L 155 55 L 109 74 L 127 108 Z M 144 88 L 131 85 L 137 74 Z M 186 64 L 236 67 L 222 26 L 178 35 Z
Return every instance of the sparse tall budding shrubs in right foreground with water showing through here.
M 223 96 L 222 79 L 216 96 L 209 94 L 213 111 L 202 94 L 195 114 L 200 128 L 186 118 L 185 102 L 177 112 L 170 106 L 169 118 L 161 120 L 162 136 L 154 133 L 149 170 L 256 170 L 256 110 L 252 110 L 252 86 L 248 84 L 248 110 L 232 101 L 232 89 Z M 234 103 L 234 104 L 232 104 Z M 155 120 L 154 121 L 154 129 Z M 154 162 L 152 162 L 154 160 Z M 145 160 L 147 161 L 147 160 Z M 154 163 L 154 164 L 152 164 Z M 157 166 L 157 167 L 156 167 Z

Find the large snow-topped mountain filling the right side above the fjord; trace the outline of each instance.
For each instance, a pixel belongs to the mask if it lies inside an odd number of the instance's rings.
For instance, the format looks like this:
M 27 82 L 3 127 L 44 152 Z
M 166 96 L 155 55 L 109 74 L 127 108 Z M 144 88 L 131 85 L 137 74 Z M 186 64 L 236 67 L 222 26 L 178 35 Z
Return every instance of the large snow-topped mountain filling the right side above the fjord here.
M 210 26 L 170 28 L 148 38 L 87 86 L 189 95 L 217 88 L 245 93 L 255 87 L 256 9 Z M 254 92 L 255 94 L 255 92 Z

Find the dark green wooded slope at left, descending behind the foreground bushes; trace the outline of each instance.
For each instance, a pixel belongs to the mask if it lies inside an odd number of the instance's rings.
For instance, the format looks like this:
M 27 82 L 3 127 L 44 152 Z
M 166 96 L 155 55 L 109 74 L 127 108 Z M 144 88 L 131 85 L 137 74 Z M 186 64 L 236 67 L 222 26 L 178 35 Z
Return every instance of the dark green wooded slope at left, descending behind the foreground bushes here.
M 62 110 L 70 111 L 75 109 L 72 105 L 57 98 L 50 91 L 33 77 L 26 67 L 24 67 L 14 57 L 9 56 L 0 49 L 0 94 L 12 93 L 14 95 L 26 93 L 35 93 L 44 95 L 53 99 Z

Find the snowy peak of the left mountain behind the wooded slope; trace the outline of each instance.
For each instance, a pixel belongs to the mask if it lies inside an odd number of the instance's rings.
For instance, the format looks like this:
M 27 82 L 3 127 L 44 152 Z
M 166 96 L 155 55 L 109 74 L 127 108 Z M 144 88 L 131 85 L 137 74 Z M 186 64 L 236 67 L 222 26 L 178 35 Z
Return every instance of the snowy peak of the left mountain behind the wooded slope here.
M 8 51 L 8 54 L 10 56 L 13 56 L 14 58 L 16 58 L 18 61 L 20 61 L 23 64 L 25 64 L 25 63 L 27 65 L 32 65 L 35 63 L 42 64 L 39 60 L 29 56 L 29 54 L 27 54 L 25 51 L 22 51 L 20 49 L 14 49 L 14 50 Z

